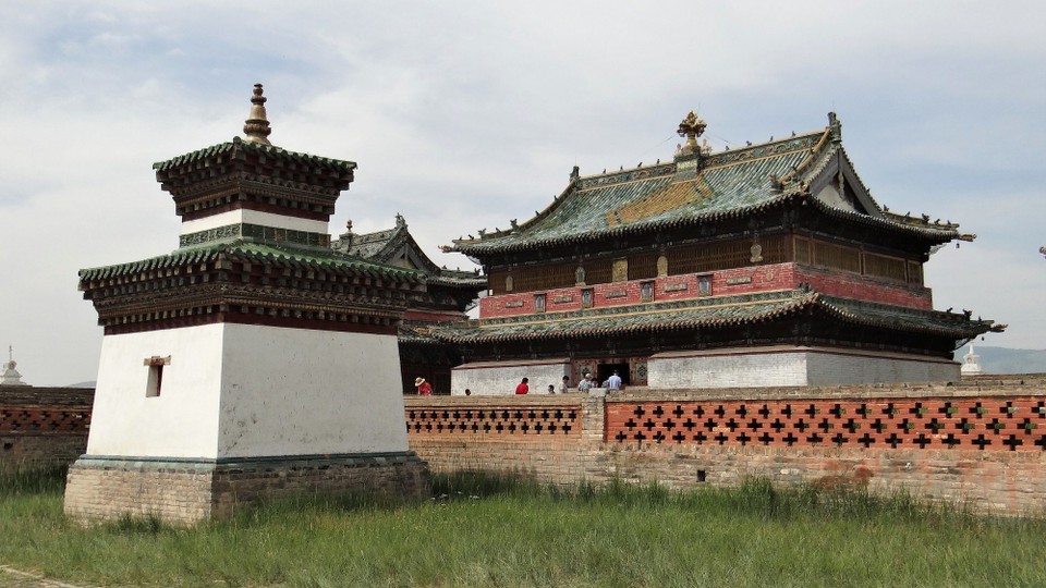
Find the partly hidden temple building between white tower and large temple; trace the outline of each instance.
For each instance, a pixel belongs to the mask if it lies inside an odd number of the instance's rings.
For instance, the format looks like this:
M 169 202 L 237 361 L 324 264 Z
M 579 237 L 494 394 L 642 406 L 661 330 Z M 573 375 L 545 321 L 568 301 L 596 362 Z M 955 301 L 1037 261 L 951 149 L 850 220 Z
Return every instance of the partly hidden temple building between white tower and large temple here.
M 409 302 L 398 332 L 403 392 L 415 393 L 415 380 L 424 378 L 436 394 L 450 394 L 451 368 L 461 363 L 461 352 L 430 336 L 429 332 L 442 322 L 465 320 L 479 292 L 487 289 L 487 278 L 478 270 L 437 266 L 414 241 L 401 215 L 396 216 L 391 229 L 374 233 L 354 233 L 349 221 L 345 232 L 331 247 L 349 256 L 405 268 L 425 277 L 425 292 Z

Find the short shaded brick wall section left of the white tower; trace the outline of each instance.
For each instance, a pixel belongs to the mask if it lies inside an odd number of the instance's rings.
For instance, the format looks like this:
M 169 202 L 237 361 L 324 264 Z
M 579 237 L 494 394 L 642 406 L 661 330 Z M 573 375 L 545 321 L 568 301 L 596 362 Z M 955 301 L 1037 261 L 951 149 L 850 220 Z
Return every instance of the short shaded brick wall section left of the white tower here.
M 65 466 L 87 450 L 94 390 L 0 387 L 0 474 Z

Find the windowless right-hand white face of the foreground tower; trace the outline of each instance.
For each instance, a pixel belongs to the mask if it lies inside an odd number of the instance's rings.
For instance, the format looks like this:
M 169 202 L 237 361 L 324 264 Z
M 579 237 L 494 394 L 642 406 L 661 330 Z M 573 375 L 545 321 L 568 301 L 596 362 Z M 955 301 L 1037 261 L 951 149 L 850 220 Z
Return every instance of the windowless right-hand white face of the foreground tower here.
M 394 335 L 226 328 L 219 456 L 408 450 Z

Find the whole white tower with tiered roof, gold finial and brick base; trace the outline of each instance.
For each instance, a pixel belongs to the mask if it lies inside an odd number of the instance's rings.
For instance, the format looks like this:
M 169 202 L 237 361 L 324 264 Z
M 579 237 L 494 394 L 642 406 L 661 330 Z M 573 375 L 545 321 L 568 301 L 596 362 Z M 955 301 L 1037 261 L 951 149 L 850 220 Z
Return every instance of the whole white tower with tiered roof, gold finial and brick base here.
M 421 497 L 397 332 L 424 279 L 331 248 L 356 164 L 272 145 L 256 85 L 245 138 L 154 164 L 173 253 L 80 272 L 105 328 L 76 518 L 222 517 L 303 491 Z

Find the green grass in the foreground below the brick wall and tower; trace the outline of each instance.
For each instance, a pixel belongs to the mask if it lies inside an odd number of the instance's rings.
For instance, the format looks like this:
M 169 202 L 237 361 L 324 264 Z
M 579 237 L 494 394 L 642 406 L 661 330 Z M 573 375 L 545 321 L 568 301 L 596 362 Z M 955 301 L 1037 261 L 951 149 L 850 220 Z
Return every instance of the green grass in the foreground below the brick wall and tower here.
M 302 497 L 81 528 L 61 473 L 0 480 L 0 564 L 153 586 L 1043 586 L 1046 520 L 904 494 L 439 476 L 423 504 Z

